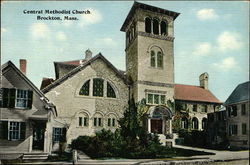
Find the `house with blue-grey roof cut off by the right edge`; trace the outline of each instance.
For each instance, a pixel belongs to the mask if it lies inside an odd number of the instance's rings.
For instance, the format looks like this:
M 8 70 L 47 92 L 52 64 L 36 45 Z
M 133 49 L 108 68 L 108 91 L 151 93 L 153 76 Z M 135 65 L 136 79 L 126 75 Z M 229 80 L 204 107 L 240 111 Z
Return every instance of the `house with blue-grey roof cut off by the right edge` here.
M 250 82 L 239 84 L 225 102 L 230 146 L 249 148 Z

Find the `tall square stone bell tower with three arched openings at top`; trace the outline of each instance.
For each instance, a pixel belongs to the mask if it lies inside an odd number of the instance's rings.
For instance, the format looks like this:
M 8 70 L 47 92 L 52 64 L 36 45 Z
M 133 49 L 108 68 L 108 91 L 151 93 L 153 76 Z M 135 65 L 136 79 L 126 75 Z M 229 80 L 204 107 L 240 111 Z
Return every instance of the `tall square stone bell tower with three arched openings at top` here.
M 126 34 L 126 74 L 138 102 L 163 104 L 174 96 L 174 20 L 179 13 L 134 2 Z

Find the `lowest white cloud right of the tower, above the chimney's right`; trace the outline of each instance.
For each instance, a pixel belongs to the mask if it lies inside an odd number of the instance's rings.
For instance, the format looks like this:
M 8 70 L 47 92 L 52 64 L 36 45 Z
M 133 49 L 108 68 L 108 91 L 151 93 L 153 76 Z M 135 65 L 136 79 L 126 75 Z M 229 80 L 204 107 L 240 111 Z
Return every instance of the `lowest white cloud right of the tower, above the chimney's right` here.
M 223 59 L 221 62 L 213 63 L 212 65 L 217 69 L 228 71 L 236 67 L 236 61 L 233 57 L 228 57 Z

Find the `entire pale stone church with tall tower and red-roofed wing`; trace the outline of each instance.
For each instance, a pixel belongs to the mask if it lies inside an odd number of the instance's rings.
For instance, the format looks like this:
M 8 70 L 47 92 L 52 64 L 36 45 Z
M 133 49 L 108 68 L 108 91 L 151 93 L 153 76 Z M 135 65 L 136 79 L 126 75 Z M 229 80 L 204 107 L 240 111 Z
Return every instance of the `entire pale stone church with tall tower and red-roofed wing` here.
M 204 129 L 208 112 L 221 102 L 208 90 L 208 74 L 200 86 L 174 82 L 174 20 L 179 13 L 134 2 L 121 31 L 126 37 L 126 71 L 118 70 L 101 53 L 84 59 L 54 62 L 56 79 L 44 78 L 41 89 L 56 105 L 58 120 L 67 128 L 67 142 L 93 135 L 103 128 L 115 130 L 128 100 L 146 99 L 150 106 L 148 132 L 171 137 L 174 112 L 168 100 L 178 103 L 183 129 Z M 185 108 L 183 108 L 185 105 Z M 188 121 L 191 121 L 189 124 Z

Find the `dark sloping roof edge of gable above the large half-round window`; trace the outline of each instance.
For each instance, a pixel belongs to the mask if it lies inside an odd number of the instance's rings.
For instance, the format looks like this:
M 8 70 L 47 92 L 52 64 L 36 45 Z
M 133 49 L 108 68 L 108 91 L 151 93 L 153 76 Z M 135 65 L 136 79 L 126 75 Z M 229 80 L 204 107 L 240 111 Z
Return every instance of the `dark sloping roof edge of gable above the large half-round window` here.
M 122 74 L 122 72 L 120 72 L 118 69 L 116 69 L 116 67 L 113 64 L 111 64 L 101 53 L 99 53 L 98 55 L 94 56 L 93 58 L 91 58 L 90 60 L 86 61 L 85 63 L 82 63 L 78 67 L 72 69 L 70 72 L 68 72 L 63 77 L 55 80 L 52 84 L 50 84 L 47 87 L 45 87 L 44 89 L 42 89 L 42 91 L 44 93 L 47 93 L 48 91 L 50 91 L 54 87 L 56 87 L 59 84 L 63 83 L 69 77 L 72 77 L 73 75 L 75 75 L 79 71 L 81 71 L 84 68 L 86 68 L 88 65 L 90 65 L 92 62 L 96 61 L 97 59 L 103 60 L 117 74 L 117 76 L 119 76 L 120 78 L 122 78 L 122 80 L 126 83 L 125 76 Z

